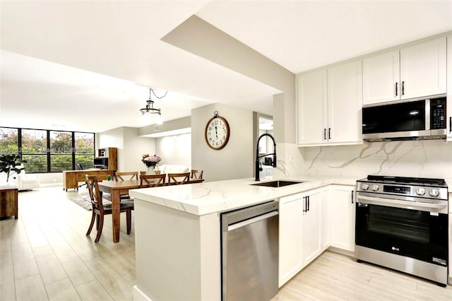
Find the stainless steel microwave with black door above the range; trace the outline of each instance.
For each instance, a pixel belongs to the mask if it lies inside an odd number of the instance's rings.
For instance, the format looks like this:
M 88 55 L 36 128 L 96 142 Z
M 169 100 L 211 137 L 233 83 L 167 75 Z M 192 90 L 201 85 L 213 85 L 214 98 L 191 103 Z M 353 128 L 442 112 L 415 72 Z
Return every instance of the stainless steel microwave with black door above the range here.
M 362 138 L 366 141 L 446 138 L 446 97 L 365 106 Z

